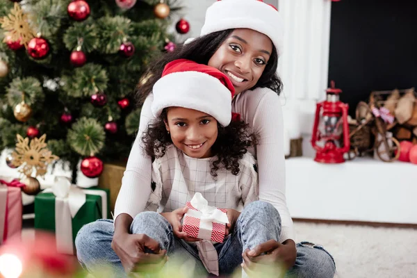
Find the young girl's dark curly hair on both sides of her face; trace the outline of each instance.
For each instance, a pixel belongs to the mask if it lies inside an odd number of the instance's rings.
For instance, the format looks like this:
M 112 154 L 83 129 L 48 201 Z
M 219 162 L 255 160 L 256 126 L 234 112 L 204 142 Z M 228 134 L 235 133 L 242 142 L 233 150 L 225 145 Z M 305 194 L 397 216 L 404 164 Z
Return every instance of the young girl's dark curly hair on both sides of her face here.
M 167 110 L 164 109 L 158 119 L 148 124 L 147 130 L 142 135 L 143 149 L 152 159 L 164 156 L 166 148 L 173 144 L 165 127 L 166 120 Z M 239 160 L 247 153 L 247 148 L 254 145 L 256 138 L 254 134 L 249 133 L 245 122 L 232 121 L 225 127 L 218 123 L 218 138 L 211 147 L 211 152 L 213 156 L 217 156 L 217 160 L 212 163 L 211 176 L 217 177 L 220 168 L 238 175 Z

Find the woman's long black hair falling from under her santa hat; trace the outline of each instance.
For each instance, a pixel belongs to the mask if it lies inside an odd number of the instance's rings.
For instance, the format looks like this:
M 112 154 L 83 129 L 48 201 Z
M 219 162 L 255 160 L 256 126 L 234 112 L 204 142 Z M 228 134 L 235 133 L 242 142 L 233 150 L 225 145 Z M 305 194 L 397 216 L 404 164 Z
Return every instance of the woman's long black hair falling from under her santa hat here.
M 188 44 L 178 46 L 171 53 L 163 54 L 158 60 L 155 60 L 149 68 L 146 74 L 152 74 L 146 83 L 139 82 L 136 85 L 135 95 L 138 100 L 138 104 L 141 105 L 145 101 L 146 97 L 152 92 L 152 88 L 158 79 L 161 78 L 163 69 L 167 63 L 177 59 L 188 59 L 195 63 L 207 65 L 208 60 L 215 54 L 215 51 L 222 45 L 224 40 L 229 38 L 229 35 L 234 29 L 227 29 L 224 31 L 218 31 L 209 33 L 202 37 L 196 38 Z M 261 75 L 259 81 L 251 88 L 270 88 L 279 95 L 282 90 L 282 82 L 277 75 L 278 67 L 278 53 L 275 45 L 272 44 L 272 54 L 270 60 L 265 66 L 265 70 Z

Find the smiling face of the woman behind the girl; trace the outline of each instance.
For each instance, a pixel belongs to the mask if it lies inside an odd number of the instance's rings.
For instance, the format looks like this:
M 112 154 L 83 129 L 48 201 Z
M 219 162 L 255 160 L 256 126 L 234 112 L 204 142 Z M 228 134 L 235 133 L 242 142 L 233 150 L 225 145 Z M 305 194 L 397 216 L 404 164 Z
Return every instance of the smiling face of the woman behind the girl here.
M 229 76 L 238 95 L 256 85 L 271 53 L 272 41 L 267 35 L 240 28 L 224 40 L 208 65 Z

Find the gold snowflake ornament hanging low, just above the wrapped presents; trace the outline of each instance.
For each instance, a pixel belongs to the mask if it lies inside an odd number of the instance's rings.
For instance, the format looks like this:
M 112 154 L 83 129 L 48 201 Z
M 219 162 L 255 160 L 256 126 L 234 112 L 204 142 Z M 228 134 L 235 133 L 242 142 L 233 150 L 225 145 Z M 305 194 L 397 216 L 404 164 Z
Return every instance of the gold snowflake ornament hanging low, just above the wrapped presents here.
M 59 159 L 49 151 L 46 139 L 47 135 L 44 134 L 40 138 L 33 138 L 29 144 L 29 138 L 17 134 L 15 152 L 12 153 L 13 164 L 17 167 L 23 166 L 19 172 L 26 177 L 31 177 L 33 170 L 36 176 L 44 176 L 48 164 Z

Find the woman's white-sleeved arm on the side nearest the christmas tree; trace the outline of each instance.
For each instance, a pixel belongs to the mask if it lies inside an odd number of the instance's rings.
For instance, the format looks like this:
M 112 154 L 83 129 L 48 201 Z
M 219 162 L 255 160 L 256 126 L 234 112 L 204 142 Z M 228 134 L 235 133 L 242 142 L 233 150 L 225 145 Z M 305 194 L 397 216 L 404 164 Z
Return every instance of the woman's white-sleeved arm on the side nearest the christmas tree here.
M 154 96 L 151 94 L 145 100 L 140 113 L 140 124 L 138 135 L 127 161 L 126 170 L 122 179 L 122 187 L 115 204 L 115 220 L 120 214 L 130 215 L 133 219 L 135 216 L 145 209 L 149 195 L 152 192 L 152 160 L 144 152 L 142 152 L 142 134 L 147 129 L 150 121 L 154 120 L 152 115 L 151 104 Z M 127 217 L 124 215 L 124 218 Z M 127 217 L 129 219 L 129 217 Z M 124 224 L 128 223 L 123 221 Z M 115 228 L 119 225 L 115 225 Z M 130 224 L 129 224 L 130 227 Z

